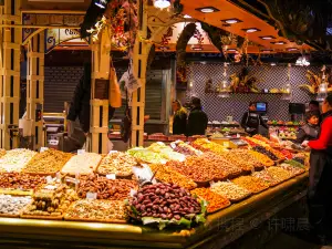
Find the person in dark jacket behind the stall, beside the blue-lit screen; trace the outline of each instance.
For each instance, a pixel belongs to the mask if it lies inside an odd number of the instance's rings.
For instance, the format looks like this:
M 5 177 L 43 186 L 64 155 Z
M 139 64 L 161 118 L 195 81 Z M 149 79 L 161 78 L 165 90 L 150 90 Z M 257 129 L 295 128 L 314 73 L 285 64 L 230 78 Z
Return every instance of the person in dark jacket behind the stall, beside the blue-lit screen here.
M 249 112 L 246 112 L 241 120 L 241 126 L 245 131 L 253 136 L 256 134 L 267 135 L 269 127 L 262 120 L 261 115 L 256 112 L 256 103 L 249 103 Z M 266 129 L 266 131 L 263 131 Z

